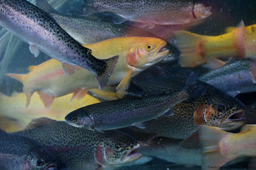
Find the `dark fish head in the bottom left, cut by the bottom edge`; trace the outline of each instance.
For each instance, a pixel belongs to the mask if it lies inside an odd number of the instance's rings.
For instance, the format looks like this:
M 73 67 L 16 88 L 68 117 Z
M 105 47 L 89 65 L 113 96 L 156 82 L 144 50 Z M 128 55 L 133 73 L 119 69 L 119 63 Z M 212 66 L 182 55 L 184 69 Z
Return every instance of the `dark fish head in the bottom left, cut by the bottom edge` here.
M 28 152 L 24 167 L 28 167 L 28 169 L 56 170 L 57 159 L 45 148 L 33 146 Z

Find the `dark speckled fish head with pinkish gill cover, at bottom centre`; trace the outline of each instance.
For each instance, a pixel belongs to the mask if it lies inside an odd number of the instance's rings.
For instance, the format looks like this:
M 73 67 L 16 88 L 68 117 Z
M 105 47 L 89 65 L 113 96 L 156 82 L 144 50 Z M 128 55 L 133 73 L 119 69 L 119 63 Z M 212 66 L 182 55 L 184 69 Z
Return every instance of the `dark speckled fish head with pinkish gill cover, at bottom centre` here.
M 128 134 L 120 131 L 105 131 L 103 136 L 95 152 L 98 164 L 108 167 L 123 166 L 142 157 L 138 153 L 140 144 Z

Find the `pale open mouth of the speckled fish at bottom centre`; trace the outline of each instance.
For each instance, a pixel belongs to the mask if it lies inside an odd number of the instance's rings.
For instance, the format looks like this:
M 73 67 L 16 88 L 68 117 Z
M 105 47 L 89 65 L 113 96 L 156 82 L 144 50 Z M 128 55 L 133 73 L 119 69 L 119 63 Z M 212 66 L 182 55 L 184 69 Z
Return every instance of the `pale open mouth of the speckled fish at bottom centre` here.
M 138 153 L 139 148 L 140 148 L 140 144 L 138 143 L 136 146 L 133 147 L 132 150 L 125 153 L 125 155 L 122 157 L 122 164 L 127 164 L 140 159 L 142 155 Z

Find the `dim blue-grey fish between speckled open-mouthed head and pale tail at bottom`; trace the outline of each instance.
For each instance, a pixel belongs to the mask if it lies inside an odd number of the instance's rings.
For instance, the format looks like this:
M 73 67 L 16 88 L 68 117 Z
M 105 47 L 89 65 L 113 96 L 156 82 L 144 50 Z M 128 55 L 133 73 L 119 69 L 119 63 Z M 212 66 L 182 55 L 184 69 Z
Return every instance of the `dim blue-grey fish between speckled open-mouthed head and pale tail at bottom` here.
M 138 153 L 186 166 L 201 166 L 202 150 L 180 146 L 182 140 L 158 137 L 141 144 Z

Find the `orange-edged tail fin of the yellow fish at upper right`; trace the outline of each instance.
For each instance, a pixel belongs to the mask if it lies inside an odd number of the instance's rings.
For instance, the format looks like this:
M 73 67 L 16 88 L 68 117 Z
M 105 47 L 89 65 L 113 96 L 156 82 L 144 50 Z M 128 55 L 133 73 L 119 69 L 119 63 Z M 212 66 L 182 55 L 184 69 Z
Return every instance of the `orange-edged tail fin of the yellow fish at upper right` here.
M 184 67 L 195 67 L 207 62 L 204 50 L 204 38 L 188 31 L 175 32 L 175 44 L 179 47 L 179 64 Z

